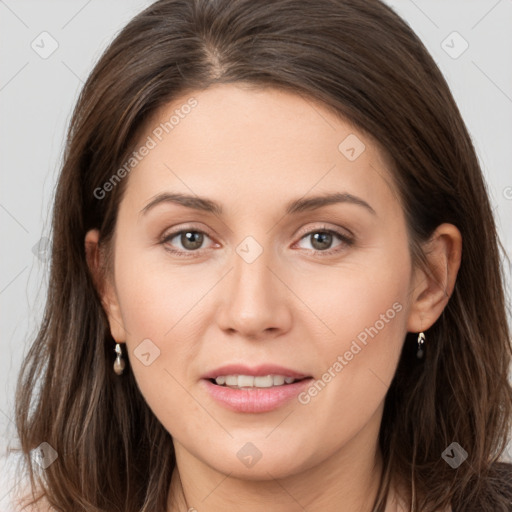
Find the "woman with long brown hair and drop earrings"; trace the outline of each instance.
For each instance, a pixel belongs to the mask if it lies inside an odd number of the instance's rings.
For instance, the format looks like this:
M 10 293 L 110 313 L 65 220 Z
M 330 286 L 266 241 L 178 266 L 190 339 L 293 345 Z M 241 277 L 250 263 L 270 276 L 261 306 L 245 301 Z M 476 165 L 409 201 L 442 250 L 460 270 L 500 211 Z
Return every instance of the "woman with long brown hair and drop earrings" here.
M 34 500 L 512 510 L 498 245 L 390 8 L 154 3 L 71 121 L 17 396 Z

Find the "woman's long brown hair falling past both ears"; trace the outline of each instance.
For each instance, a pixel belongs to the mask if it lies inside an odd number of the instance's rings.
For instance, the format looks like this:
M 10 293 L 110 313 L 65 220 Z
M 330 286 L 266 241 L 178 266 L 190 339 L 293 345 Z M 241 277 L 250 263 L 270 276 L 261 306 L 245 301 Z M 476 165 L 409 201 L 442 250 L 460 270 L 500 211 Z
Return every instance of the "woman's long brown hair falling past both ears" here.
M 114 341 L 84 237 L 98 228 L 100 243 L 111 243 L 127 179 L 102 199 L 95 190 L 150 116 L 178 95 L 230 82 L 319 100 L 378 141 L 393 163 L 414 264 L 426 264 L 420 244 L 441 223 L 462 234 L 455 289 L 428 331 L 425 358 L 414 357 L 408 334 L 386 396 L 374 510 L 384 510 L 395 479 L 408 486 L 412 510 L 512 510 L 507 465 L 497 462 L 512 421 L 512 349 L 486 186 L 441 72 L 378 0 L 160 0 L 105 51 L 71 120 L 44 320 L 18 381 L 16 424 L 33 488 L 65 512 L 166 509 L 172 439 L 129 361 L 122 378 L 112 371 Z M 454 441 L 468 452 L 457 469 L 441 457 Z M 43 442 L 58 459 L 38 472 L 30 453 Z

